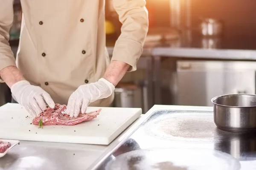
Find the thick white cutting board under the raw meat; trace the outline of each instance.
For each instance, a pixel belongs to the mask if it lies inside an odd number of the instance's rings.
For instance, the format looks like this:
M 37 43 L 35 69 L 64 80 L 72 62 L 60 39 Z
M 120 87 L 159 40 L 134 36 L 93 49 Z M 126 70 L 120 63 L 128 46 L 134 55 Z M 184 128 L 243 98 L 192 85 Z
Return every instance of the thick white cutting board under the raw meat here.
M 42 129 L 30 124 L 33 118 L 21 105 L 7 103 L 0 107 L 0 139 L 108 145 L 142 113 L 141 108 L 108 107 L 88 107 L 86 112 L 99 108 L 101 113 L 92 121 Z

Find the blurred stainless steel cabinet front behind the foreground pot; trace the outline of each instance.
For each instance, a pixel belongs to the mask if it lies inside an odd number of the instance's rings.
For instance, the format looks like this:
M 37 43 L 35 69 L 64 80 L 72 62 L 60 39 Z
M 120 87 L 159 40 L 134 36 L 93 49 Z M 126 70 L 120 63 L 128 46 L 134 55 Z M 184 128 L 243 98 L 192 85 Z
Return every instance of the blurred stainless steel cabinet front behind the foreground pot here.
M 177 61 L 177 105 L 212 106 L 222 94 L 255 94 L 256 62 Z

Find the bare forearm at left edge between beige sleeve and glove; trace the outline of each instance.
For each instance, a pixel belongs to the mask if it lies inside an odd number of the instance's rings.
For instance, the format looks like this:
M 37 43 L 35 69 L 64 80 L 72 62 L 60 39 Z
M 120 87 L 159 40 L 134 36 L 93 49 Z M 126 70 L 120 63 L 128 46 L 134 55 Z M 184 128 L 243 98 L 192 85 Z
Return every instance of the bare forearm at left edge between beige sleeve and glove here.
M 3 68 L 0 71 L 0 77 L 3 79 L 3 81 L 6 82 L 9 88 L 11 88 L 12 85 L 14 85 L 16 82 L 24 80 L 23 75 L 15 66 L 8 66 L 6 68 Z

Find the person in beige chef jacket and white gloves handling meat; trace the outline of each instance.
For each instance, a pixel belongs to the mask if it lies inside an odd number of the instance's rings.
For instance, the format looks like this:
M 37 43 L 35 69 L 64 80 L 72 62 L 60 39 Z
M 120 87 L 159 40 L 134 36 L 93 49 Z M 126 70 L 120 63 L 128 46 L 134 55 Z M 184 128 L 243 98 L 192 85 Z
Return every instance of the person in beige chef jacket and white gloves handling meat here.
M 9 46 L 13 1 L 0 0 L 0 80 L 32 115 L 67 105 L 108 107 L 126 72 L 136 70 L 148 31 L 145 0 L 113 0 L 122 23 L 111 61 L 105 46 L 105 0 L 20 0 L 17 58 Z

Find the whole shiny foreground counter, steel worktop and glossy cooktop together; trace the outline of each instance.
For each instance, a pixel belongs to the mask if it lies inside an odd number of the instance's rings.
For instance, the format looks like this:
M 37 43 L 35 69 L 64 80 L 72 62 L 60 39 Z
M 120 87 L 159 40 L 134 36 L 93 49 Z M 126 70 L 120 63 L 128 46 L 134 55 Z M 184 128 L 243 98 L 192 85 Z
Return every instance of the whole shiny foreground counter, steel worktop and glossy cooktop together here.
M 218 130 L 212 107 L 154 105 L 111 148 L 21 141 L 0 170 L 253 170 L 255 136 Z

